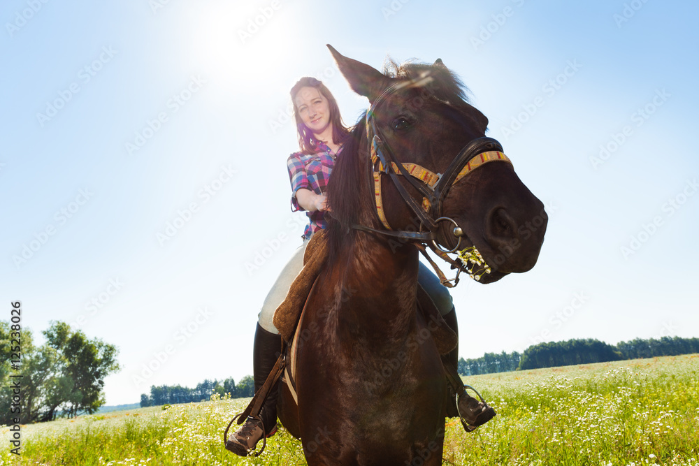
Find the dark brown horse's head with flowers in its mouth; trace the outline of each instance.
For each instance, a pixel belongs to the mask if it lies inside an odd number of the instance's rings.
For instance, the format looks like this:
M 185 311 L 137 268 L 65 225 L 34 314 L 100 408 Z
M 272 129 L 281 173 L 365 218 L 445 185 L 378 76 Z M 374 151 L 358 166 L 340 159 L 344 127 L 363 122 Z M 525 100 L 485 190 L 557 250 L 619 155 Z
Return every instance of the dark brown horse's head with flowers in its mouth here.
M 459 79 L 440 59 L 433 65 L 396 66 L 384 75 L 329 48 L 352 89 L 372 104 L 366 129 L 359 128 L 368 136 L 360 156 L 377 154 L 375 168 L 394 158 L 412 163 L 408 170 L 426 169 L 421 180 L 398 170 L 402 188 L 382 182 L 383 204 L 390 206 L 382 209 L 384 226 L 431 230 L 445 249 L 476 247 L 492 269 L 482 276 L 484 283 L 531 269 L 544 240 L 544 206 L 519 180 L 499 143 L 484 138 L 488 119 L 466 101 Z

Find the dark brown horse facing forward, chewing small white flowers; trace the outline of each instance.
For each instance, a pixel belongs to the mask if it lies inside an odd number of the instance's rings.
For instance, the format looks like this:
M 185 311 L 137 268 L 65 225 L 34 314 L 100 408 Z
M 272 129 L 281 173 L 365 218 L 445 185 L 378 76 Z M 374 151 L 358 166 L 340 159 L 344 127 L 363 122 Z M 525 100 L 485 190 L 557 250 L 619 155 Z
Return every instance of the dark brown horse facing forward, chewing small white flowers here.
M 447 381 L 428 322 L 416 312 L 412 240 L 477 247 L 492 268 L 481 282 L 494 282 L 533 267 L 547 217 L 511 163 L 482 163 L 457 175 L 499 145 L 484 138 L 488 119 L 468 104 L 442 61 L 384 75 L 331 52 L 372 107 L 331 176 L 331 259 L 298 327 L 305 335 L 296 352 L 298 405 L 283 386 L 279 417 L 301 438 L 309 465 L 441 465 Z M 384 222 L 373 173 L 394 157 L 448 180 L 425 188 L 405 174 L 396 184 L 381 175 Z M 387 225 L 419 233 L 375 233 Z

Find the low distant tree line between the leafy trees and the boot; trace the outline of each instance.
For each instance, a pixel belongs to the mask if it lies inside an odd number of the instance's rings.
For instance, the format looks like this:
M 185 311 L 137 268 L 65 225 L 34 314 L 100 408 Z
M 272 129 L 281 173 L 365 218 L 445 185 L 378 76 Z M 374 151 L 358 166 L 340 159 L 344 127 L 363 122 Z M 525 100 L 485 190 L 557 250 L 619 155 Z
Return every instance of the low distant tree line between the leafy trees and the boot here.
M 196 387 L 189 388 L 180 385 L 151 386 L 150 395 L 143 393 L 140 395 L 140 406 L 174 405 L 175 403 L 190 403 L 206 401 L 211 399 L 211 395 L 224 396 L 231 394 L 231 398 L 247 398 L 255 394 L 254 381 L 251 375 L 247 375 L 236 382 L 232 377 L 218 381 L 216 379 L 206 379 Z

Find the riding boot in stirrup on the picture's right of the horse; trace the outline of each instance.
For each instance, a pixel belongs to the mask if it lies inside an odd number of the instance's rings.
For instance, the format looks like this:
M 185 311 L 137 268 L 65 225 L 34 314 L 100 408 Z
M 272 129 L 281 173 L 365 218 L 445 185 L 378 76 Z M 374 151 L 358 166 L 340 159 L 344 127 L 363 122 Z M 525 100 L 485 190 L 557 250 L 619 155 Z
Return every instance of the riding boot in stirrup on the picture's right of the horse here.
M 456 310 L 452 307 L 449 314 L 443 316 L 445 322 L 454 330 L 456 336 L 459 336 L 459 324 L 456 321 Z M 449 351 L 448 354 L 442 355 L 442 364 L 454 367 L 454 370 L 459 368 L 459 342 L 457 338 L 456 348 Z M 484 402 L 480 402 L 466 393 L 466 389 L 459 388 L 459 407 L 456 407 L 456 393 L 452 384 L 447 384 L 447 417 L 459 417 L 461 412 L 461 423 L 466 432 L 475 430 L 479 425 L 487 423 L 495 415 L 495 410 L 489 407 Z

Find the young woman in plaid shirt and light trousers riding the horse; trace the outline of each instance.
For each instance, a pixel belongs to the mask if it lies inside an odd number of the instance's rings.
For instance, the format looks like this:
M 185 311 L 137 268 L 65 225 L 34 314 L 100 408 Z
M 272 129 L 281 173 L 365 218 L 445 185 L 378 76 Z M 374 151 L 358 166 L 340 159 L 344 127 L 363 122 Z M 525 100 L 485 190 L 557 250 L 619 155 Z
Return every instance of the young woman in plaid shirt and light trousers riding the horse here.
M 305 210 L 309 223 L 303 232 L 303 244 L 296 249 L 294 256 L 280 273 L 259 313 L 253 349 L 255 391 L 264 384 L 279 356 L 282 338 L 272 323 L 274 312 L 286 298 L 291 282 L 303 268 L 303 254 L 308 240 L 313 233 L 326 227 L 325 188 L 336 158 L 342 154 L 343 141 L 349 134 L 349 129 L 340 117 L 340 110 L 333 94 L 319 80 L 315 78 L 298 80 L 291 88 L 291 101 L 294 103 L 298 145 L 301 148 L 300 152 L 294 152 L 287 159 L 291 182 L 291 209 Z M 449 291 L 422 263 L 420 263 L 418 280 L 431 296 L 449 327 L 456 332 L 456 312 Z M 456 365 L 456 352 L 457 350 L 454 350 L 452 351 L 454 354 L 450 354 L 450 360 L 453 360 L 454 365 Z M 277 431 L 277 398 L 278 387 L 275 386 L 260 412 L 267 437 L 271 437 Z M 469 424 L 480 425 L 495 415 L 492 408 L 474 398 L 466 399 L 468 403 L 461 409 L 461 414 L 469 418 Z M 226 449 L 237 455 L 247 456 L 247 453 L 254 450 L 257 442 L 262 439 L 262 435 L 260 422 L 249 417 L 243 426 L 229 437 Z

